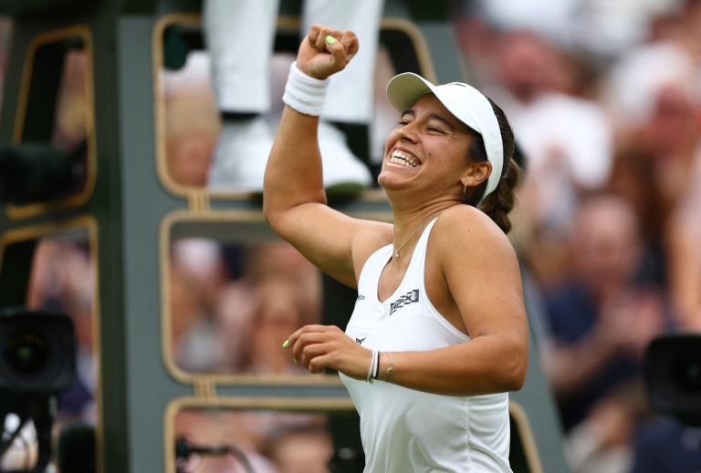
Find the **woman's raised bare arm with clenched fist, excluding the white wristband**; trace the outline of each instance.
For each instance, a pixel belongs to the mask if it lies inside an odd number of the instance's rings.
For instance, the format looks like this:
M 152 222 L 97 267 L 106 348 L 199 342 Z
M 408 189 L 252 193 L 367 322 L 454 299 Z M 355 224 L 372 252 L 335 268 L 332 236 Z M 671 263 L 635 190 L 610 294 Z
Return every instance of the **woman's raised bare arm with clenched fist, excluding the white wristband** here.
M 336 42 L 328 44 L 326 36 Z M 309 77 L 325 79 L 343 69 L 357 50 L 352 32 L 315 25 L 299 46 L 298 68 Z M 263 210 L 283 239 L 322 271 L 352 287 L 367 248 L 391 238 L 391 228 L 351 219 L 326 205 L 318 125 L 318 117 L 285 107 L 267 160 Z M 366 235 L 359 239 L 363 231 Z

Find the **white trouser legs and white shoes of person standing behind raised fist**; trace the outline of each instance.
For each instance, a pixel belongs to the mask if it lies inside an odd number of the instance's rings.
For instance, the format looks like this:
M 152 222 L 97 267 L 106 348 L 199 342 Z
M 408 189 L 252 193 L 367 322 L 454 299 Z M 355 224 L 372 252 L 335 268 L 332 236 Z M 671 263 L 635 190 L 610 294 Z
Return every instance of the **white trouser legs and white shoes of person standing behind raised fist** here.
M 217 106 L 223 118 L 208 184 L 214 190 L 263 189 L 263 173 L 273 133 L 263 114 L 271 107 L 269 58 L 272 55 L 277 0 L 204 2 L 204 31 L 211 57 Z M 352 28 L 363 48 L 348 69 L 335 77 L 319 127 L 324 159 L 324 184 L 368 186 L 370 171 L 347 147 L 330 122 L 368 123 L 372 113 L 372 70 L 375 66 L 382 0 L 303 3 L 302 31 L 312 23 Z M 357 61 L 357 63 L 356 63 Z

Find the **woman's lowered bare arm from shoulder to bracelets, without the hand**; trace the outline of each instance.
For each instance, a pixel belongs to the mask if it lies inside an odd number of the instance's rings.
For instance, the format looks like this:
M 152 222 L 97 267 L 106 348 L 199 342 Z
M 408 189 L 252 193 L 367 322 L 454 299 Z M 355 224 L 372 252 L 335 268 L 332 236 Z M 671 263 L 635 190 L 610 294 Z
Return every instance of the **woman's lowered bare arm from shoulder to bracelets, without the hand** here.
M 426 289 L 443 314 L 455 312 L 471 340 L 429 352 L 392 354 L 392 383 L 463 396 L 523 385 L 528 324 L 518 262 L 506 236 L 488 220 L 466 206 L 445 211 L 432 233 L 433 249 L 429 247 L 444 283 L 432 293 L 426 282 Z M 383 375 L 389 362 L 389 356 L 381 358 Z

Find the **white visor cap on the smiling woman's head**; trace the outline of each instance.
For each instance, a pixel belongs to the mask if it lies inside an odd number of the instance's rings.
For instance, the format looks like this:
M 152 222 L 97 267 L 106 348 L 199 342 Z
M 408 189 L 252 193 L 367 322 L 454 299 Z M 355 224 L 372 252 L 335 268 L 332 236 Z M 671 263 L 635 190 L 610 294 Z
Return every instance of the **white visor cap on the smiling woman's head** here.
M 387 98 L 400 112 L 411 108 L 416 100 L 426 94 L 434 94 L 455 118 L 482 135 L 487 150 L 487 159 L 492 164 L 492 172 L 487 178 L 487 188 L 482 196 L 482 200 L 484 200 L 487 195 L 497 189 L 501 171 L 504 169 L 501 130 L 492 104 L 475 87 L 462 82 L 434 86 L 424 77 L 413 72 L 404 72 L 394 76 L 387 84 Z

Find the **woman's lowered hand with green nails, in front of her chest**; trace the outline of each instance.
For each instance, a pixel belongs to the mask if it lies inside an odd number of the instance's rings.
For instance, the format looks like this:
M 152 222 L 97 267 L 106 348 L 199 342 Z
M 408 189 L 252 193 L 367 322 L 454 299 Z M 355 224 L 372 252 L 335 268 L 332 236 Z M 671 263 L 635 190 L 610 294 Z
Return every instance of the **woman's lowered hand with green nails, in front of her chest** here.
M 291 334 L 286 345 L 292 356 L 309 373 L 326 368 L 340 371 L 355 379 L 365 379 L 370 369 L 372 352 L 355 343 L 335 325 L 305 325 Z

